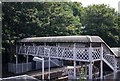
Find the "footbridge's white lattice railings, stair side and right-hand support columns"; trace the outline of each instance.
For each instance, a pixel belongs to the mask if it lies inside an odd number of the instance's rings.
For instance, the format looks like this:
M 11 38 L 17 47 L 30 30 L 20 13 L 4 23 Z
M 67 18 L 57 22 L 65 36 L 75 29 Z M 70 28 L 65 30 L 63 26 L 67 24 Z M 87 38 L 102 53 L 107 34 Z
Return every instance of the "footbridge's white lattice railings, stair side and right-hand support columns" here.
M 19 50 L 18 50 L 19 49 Z M 74 67 L 76 61 L 89 62 L 89 79 L 92 79 L 92 62 L 101 60 L 101 70 L 103 61 L 112 69 L 116 69 L 115 56 L 105 46 L 101 47 L 63 47 L 63 46 L 18 46 L 17 54 L 25 54 L 39 57 L 73 60 Z M 75 69 L 74 77 L 76 75 Z M 103 72 L 101 71 L 101 78 Z

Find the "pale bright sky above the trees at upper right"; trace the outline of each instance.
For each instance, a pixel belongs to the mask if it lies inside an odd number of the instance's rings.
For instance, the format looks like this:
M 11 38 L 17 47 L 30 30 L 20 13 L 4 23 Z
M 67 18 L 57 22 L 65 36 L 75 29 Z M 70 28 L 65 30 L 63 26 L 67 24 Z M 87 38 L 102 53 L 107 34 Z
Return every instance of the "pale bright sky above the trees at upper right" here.
M 72 1 L 77 1 L 81 2 L 83 6 L 88 6 L 92 4 L 107 4 L 110 7 L 115 8 L 118 11 L 118 3 L 120 7 L 120 0 L 72 0 Z

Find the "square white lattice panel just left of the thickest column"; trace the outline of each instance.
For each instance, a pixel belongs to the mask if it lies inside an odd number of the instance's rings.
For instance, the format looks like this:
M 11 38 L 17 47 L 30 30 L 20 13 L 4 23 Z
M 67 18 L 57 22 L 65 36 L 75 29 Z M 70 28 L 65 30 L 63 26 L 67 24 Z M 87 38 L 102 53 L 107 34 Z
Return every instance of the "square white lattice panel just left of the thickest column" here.
M 76 60 L 89 60 L 88 48 L 76 48 Z

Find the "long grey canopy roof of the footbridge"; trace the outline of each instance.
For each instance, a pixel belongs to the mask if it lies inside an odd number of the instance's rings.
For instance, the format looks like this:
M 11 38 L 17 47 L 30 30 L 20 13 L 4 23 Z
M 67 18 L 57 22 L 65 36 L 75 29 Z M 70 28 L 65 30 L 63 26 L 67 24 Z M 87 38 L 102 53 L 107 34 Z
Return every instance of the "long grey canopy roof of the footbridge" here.
M 18 42 L 103 42 L 99 36 L 51 36 L 24 38 Z

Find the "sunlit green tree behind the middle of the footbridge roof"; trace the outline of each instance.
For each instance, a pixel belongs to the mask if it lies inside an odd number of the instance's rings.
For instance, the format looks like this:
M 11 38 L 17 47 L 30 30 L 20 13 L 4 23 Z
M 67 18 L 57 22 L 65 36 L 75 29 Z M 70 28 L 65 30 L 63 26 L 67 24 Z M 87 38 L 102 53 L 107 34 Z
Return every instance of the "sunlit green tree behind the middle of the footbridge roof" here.
M 74 16 L 72 3 L 52 2 L 41 3 L 42 9 L 38 13 L 43 34 L 50 35 L 76 35 L 81 33 L 81 23 L 78 16 Z

